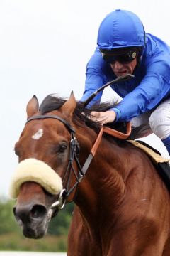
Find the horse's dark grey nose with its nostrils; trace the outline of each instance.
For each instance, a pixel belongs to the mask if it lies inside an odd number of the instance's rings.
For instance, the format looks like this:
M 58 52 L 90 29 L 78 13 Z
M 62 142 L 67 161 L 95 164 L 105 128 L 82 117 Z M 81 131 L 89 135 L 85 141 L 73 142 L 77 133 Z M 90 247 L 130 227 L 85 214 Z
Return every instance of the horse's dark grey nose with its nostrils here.
M 22 225 L 33 220 L 41 222 L 45 218 L 45 215 L 47 215 L 47 209 L 41 204 L 28 204 L 14 207 L 13 213 L 18 223 Z

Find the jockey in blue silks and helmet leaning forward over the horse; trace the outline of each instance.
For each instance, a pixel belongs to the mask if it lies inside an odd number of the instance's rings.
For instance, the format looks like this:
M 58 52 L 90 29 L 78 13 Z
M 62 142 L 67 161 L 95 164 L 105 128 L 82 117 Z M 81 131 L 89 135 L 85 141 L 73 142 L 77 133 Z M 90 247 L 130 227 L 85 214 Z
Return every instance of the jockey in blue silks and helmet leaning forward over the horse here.
M 123 98 L 106 112 L 91 112 L 101 124 L 131 122 L 130 139 L 156 134 L 170 154 L 170 47 L 145 33 L 140 18 L 117 9 L 98 29 L 97 47 L 86 66 L 86 85 L 81 101 L 99 87 L 130 73 L 132 80 L 115 83 L 112 89 Z M 90 105 L 100 102 L 99 92 Z

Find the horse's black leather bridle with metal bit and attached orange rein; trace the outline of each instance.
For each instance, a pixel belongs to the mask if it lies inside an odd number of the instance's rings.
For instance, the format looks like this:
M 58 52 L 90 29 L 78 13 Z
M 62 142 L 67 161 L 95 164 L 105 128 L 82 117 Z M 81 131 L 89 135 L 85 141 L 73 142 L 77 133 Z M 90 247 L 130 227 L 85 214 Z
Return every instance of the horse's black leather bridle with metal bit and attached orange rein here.
M 70 149 L 69 149 L 69 162 L 68 162 L 65 174 L 64 174 L 63 181 L 62 181 L 64 183 L 66 177 L 68 176 L 67 184 L 66 184 L 66 187 L 60 192 L 60 195 L 59 195 L 57 201 L 55 203 L 52 203 L 52 206 L 51 206 L 52 210 L 60 210 L 60 209 L 64 208 L 64 205 L 66 203 L 68 196 L 72 193 L 72 191 L 74 191 L 74 188 L 77 188 L 78 184 L 84 178 L 86 171 L 89 168 L 89 165 L 91 164 L 91 161 L 94 158 L 96 151 L 98 149 L 98 146 L 101 142 L 103 132 L 105 132 L 106 134 L 110 134 L 111 136 L 119 138 L 119 139 L 127 139 L 131 133 L 131 124 L 130 124 L 130 122 L 127 123 L 127 132 L 125 134 L 122 132 L 118 132 L 115 129 L 111 129 L 109 127 L 101 127 L 101 130 L 98 133 L 96 142 L 94 143 L 94 146 L 92 147 L 91 152 L 90 152 L 89 156 L 87 157 L 84 165 L 81 167 L 81 164 L 79 162 L 79 142 L 77 141 L 77 138 L 75 137 L 74 128 L 66 120 L 62 119 L 62 117 L 59 117 L 57 115 L 38 115 L 38 116 L 33 116 L 33 117 L 28 118 L 26 124 L 35 119 L 47 119 L 47 118 L 57 119 L 60 122 L 62 122 L 65 125 L 65 127 L 67 127 L 67 129 L 71 135 Z M 78 173 L 74 169 L 74 165 L 73 165 L 74 161 L 77 164 Z M 69 184 L 71 181 L 71 172 L 73 172 L 73 174 L 76 178 L 76 182 L 74 183 L 72 188 L 69 188 Z

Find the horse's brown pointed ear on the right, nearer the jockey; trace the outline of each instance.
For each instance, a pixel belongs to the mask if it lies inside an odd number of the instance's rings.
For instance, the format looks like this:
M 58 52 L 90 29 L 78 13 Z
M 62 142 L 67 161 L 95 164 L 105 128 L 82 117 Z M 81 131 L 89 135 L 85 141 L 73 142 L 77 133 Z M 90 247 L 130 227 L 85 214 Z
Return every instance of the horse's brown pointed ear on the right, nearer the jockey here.
M 74 109 L 77 106 L 77 101 L 74 97 L 74 93 L 72 92 L 69 99 L 62 105 L 62 112 L 66 114 L 67 117 L 72 117 Z

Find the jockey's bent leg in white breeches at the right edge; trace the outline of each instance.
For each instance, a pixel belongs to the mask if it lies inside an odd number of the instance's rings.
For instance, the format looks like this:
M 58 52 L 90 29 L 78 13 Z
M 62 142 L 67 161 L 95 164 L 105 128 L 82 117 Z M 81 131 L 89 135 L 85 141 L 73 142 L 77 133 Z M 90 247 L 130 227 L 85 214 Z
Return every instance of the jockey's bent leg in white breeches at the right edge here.
M 149 118 L 149 125 L 166 146 L 170 155 L 170 100 L 165 100 Z

